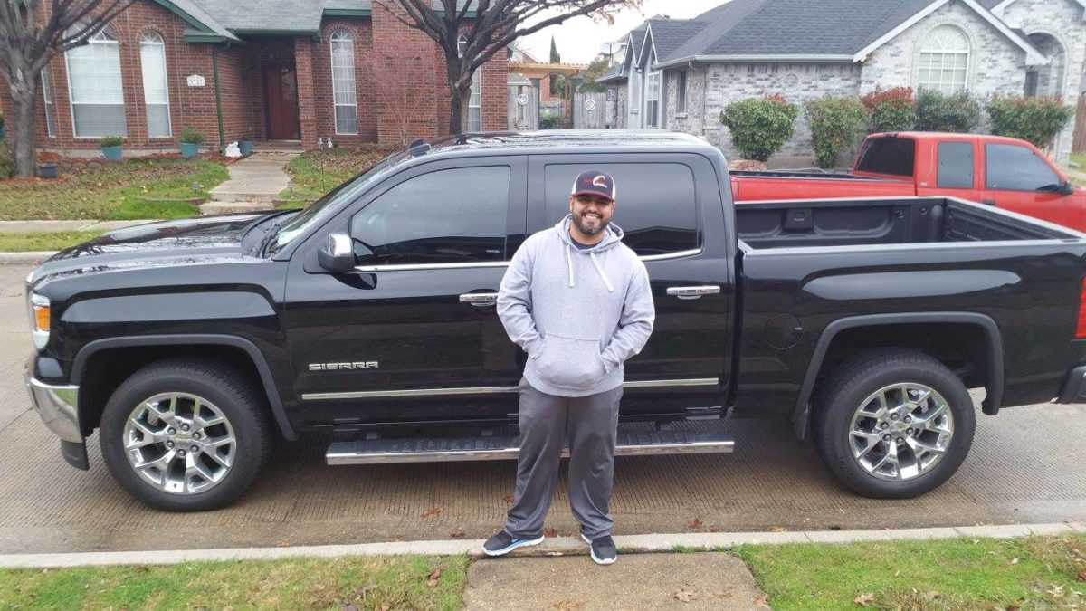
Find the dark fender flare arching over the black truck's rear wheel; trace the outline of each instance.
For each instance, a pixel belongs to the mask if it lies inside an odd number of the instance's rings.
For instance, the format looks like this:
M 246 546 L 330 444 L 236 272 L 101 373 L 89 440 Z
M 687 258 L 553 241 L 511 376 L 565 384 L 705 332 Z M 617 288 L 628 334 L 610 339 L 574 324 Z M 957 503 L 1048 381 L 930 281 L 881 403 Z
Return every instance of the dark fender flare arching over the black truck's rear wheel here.
M 796 435 L 803 439 L 807 435 L 810 424 L 811 392 L 815 390 L 815 381 L 822 369 L 822 361 L 830 350 L 830 345 L 834 338 L 845 329 L 898 325 L 898 324 L 923 324 L 923 323 L 951 323 L 962 325 L 978 326 L 984 331 L 988 344 L 988 371 L 987 384 L 985 385 L 986 396 L 981 403 L 984 413 L 995 415 L 999 413 L 999 407 L 1003 400 L 1003 340 L 999 332 L 999 325 L 990 316 L 975 312 L 914 312 L 908 314 L 870 314 L 864 316 L 850 316 L 838 319 L 826 325 L 819 336 L 811 361 L 807 365 L 807 375 L 804 377 L 803 386 L 799 387 L 799 397 L 796 406 L 792 410 L 792 427 Z

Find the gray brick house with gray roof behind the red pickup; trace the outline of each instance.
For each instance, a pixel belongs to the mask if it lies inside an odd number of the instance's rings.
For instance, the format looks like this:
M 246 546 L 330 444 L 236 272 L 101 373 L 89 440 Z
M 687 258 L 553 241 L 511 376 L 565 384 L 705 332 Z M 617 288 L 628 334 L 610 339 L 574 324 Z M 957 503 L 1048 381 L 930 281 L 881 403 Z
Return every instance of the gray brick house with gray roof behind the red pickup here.
M 720 112 L 771 93 L 790 101 L 908 86 L 1062 96 L 1086 78 L 1086 0 L 731 0 L 692 20 L 649 18 L 623 37 L 604 83 L 617 127 L 703 136 L 733 155 Z M 1055 147 L 1068 158 L 1074 126 Z M 781 161 L 808 163 L 801 116 Z

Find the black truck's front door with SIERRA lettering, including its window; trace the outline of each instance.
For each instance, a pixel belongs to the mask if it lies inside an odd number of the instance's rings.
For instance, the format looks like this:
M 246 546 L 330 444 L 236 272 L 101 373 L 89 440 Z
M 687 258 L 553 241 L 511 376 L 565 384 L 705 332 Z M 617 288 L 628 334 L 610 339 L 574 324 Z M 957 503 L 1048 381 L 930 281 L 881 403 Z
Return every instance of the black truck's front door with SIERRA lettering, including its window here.
M 350 234 L 354 273 L 305 273 L 305 253 L 292 257 L 285 320 L 306 424 L 496 423 L 516 412 L 520 350 L 494 301 L 507 245 L 525 232 L 523 173 L 522 158 L 414 167 L 329 223 Z

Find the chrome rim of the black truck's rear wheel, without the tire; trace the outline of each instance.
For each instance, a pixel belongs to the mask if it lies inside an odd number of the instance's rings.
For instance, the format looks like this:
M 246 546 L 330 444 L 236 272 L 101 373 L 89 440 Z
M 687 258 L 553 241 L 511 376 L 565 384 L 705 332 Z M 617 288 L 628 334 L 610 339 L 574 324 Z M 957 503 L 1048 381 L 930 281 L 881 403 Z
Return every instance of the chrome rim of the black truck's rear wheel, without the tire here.
M 853 458 L 880 479 L 902 482 L 931 471 L 954 437 L 954 414 L 942 395 L 923 384 L 886 386 L 853 415 Z

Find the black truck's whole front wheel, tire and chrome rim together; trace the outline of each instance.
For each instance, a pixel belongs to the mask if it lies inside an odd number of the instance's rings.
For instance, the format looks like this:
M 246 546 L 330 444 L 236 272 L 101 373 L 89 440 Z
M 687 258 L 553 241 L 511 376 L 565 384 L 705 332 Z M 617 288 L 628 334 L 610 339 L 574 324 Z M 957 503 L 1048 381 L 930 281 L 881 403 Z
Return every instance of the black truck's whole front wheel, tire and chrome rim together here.
M 225 507 L 256 478 L 272 433 L 252 383 L 210 361 L 165 361 L 126 379 L 102 412 L 102 457 L 140 501 L 166 511 Z

